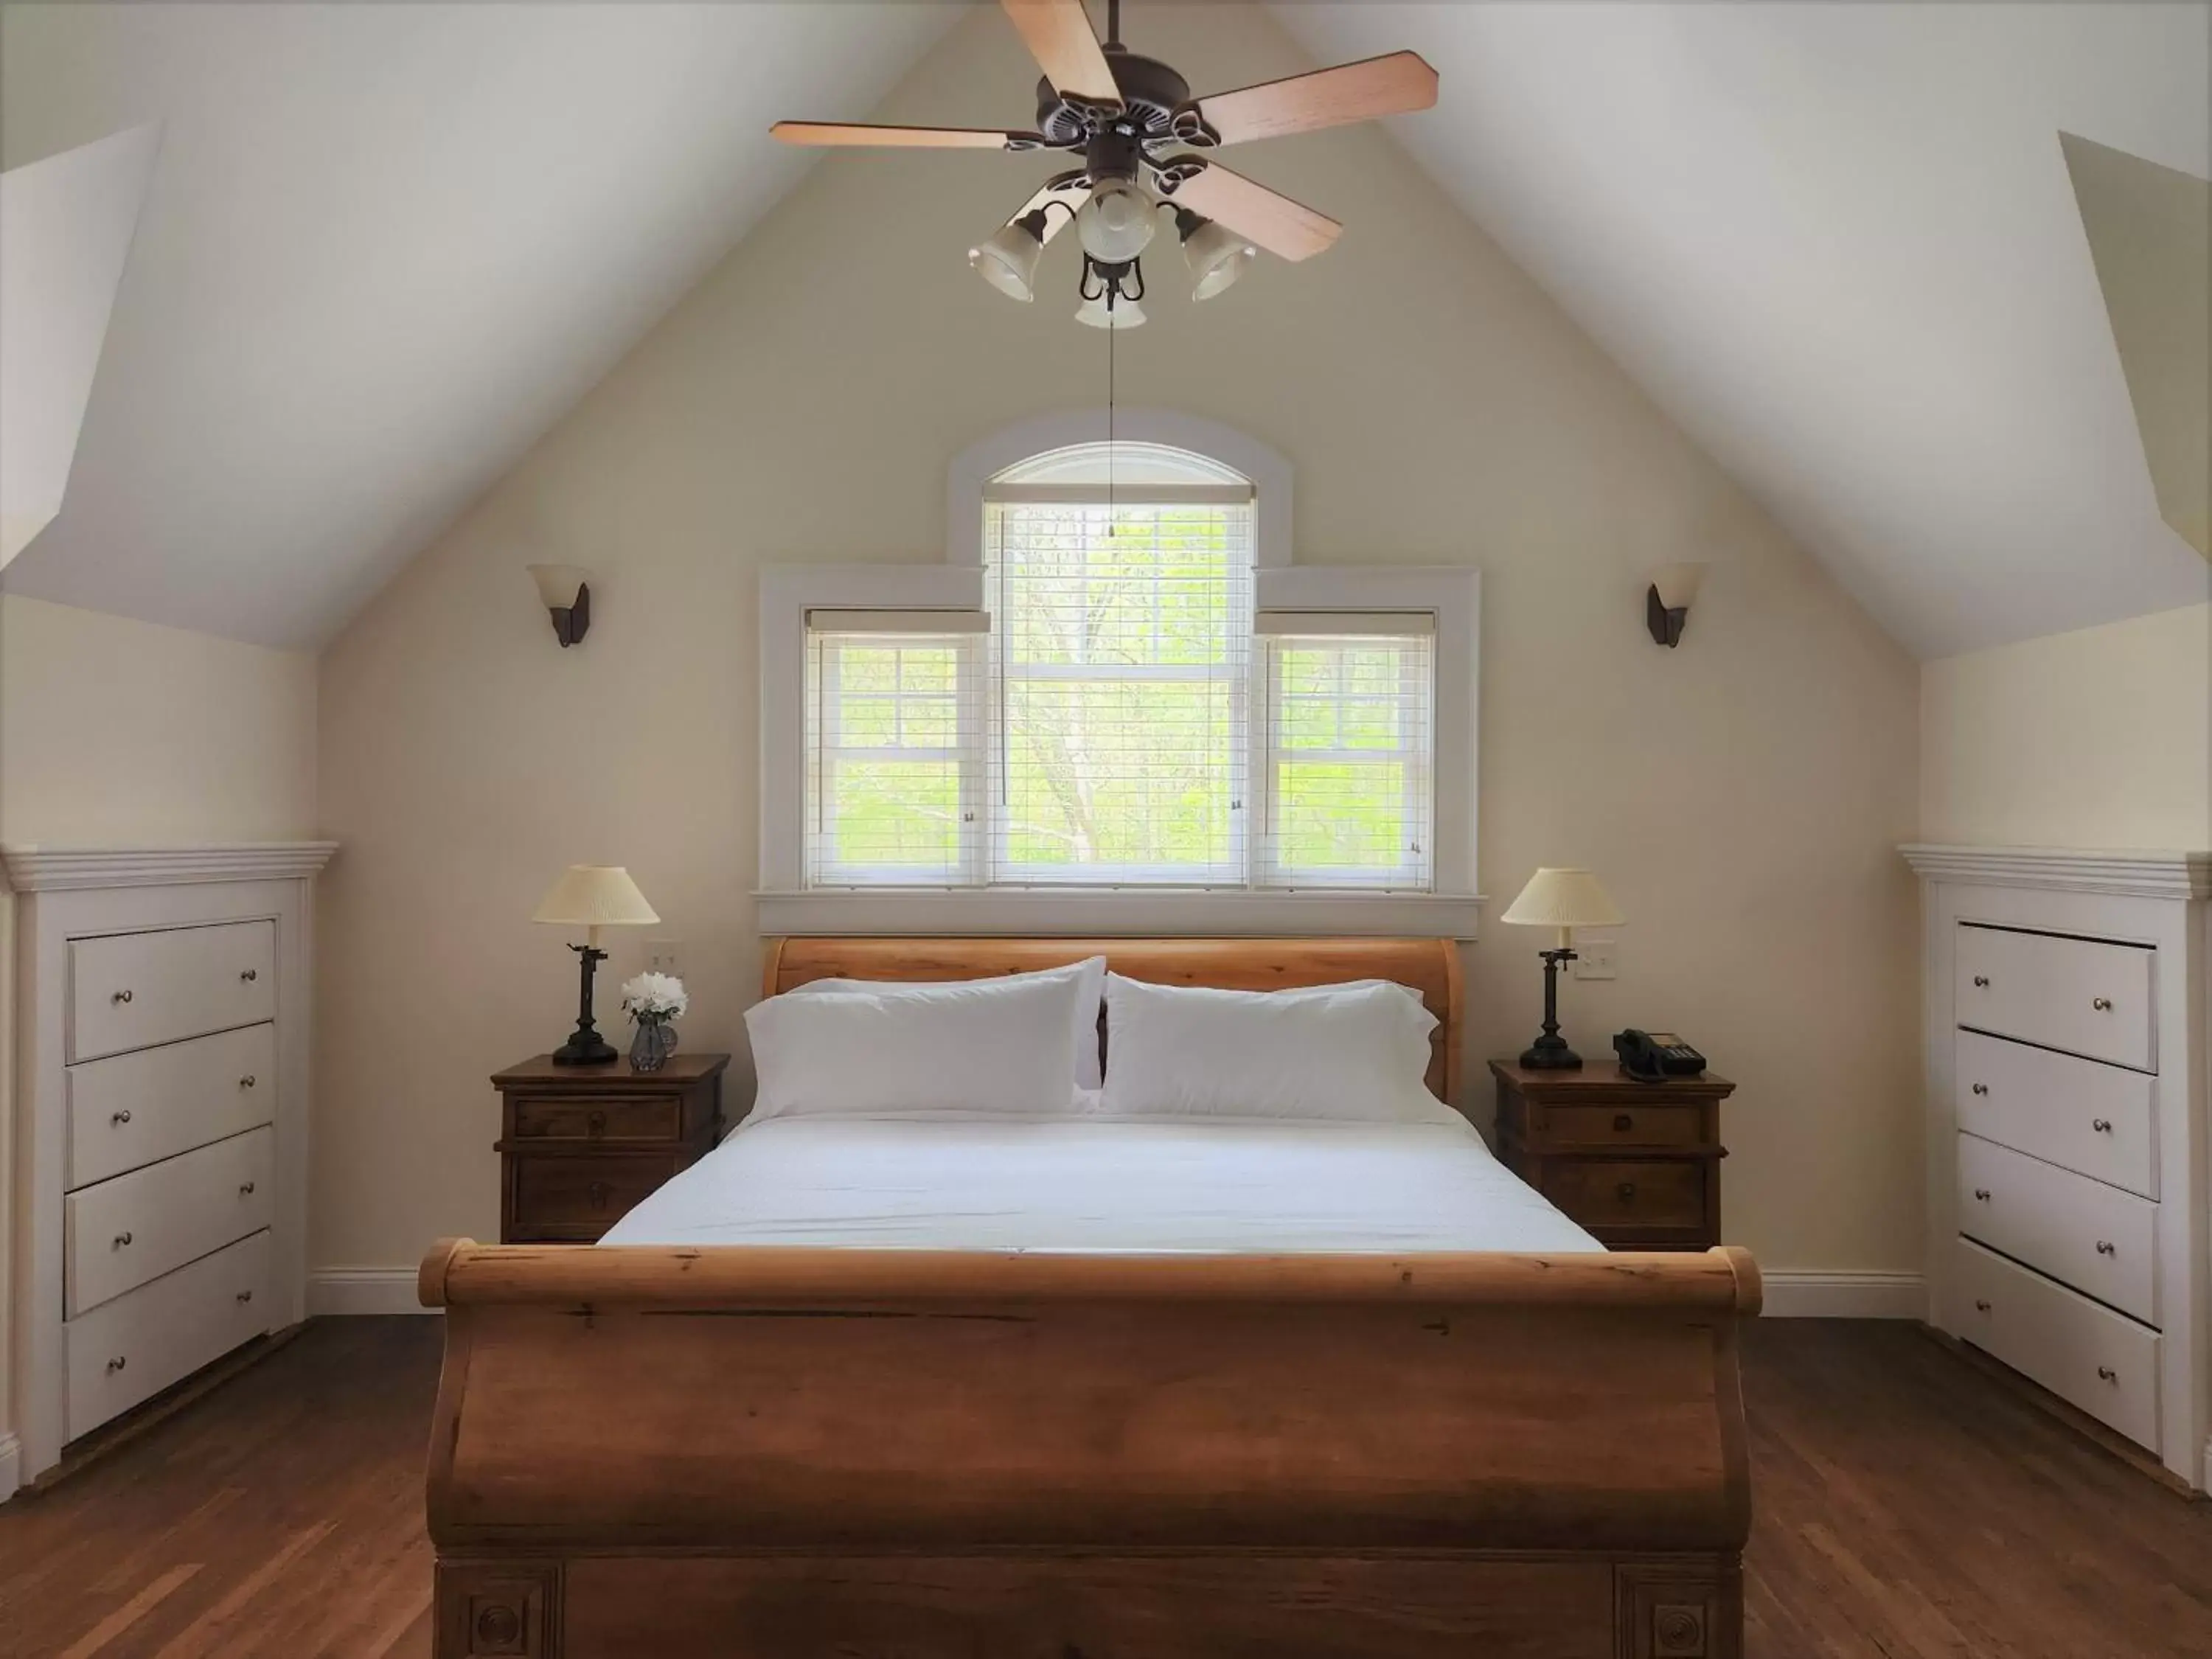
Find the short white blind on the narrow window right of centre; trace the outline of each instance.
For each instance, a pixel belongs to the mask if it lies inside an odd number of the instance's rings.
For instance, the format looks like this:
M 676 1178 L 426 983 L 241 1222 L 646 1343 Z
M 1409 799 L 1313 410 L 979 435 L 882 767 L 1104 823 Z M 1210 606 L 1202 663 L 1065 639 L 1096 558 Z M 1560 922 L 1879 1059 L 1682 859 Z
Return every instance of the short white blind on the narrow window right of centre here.
M 1433 885 L 1436 624 L 1267 613 L 1263 887 Z

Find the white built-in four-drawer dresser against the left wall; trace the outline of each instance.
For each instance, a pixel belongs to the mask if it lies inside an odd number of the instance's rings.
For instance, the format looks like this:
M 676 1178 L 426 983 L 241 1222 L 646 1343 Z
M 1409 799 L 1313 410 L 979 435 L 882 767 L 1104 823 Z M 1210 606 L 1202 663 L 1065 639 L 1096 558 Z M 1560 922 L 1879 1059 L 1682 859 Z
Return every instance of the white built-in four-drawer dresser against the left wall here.
M 20 1478 L 303 1316 L 312 883 L 334 843 L 7 847 Z

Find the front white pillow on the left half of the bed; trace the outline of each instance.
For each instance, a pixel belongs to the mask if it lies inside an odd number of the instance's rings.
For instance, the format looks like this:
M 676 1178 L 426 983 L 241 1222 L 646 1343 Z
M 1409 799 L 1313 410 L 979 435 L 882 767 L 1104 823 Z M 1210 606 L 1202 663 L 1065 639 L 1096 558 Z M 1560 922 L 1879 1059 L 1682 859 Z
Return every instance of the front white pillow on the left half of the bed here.
M 750 1006 L 745 1033 L 761 1079 L 752 1121 L 1071 1108 L 1075 980 L 933 989 L 933 998 L 823 991 Z

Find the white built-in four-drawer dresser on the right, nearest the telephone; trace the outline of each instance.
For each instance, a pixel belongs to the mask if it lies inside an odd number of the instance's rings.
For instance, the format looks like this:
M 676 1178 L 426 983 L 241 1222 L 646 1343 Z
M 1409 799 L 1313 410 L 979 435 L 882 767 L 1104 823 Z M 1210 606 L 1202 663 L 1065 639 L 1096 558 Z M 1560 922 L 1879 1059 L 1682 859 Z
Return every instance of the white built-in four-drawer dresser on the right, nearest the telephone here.
M 1929 1318 L 2208 1484 L 2212 854 L 1905 847 Z

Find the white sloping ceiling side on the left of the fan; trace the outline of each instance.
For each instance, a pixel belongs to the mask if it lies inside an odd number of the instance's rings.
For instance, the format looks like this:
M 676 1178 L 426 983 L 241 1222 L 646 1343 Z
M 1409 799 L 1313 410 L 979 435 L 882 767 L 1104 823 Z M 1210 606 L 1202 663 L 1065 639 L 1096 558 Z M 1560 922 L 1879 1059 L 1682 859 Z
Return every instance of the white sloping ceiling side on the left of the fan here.
M 166 139 L 11 593 L 327 639 L 622 358 L 942 4 L 0 13 L 0 166 Z

